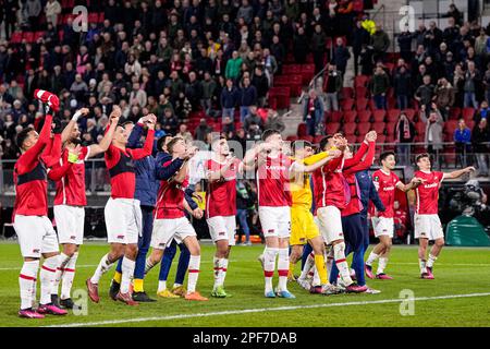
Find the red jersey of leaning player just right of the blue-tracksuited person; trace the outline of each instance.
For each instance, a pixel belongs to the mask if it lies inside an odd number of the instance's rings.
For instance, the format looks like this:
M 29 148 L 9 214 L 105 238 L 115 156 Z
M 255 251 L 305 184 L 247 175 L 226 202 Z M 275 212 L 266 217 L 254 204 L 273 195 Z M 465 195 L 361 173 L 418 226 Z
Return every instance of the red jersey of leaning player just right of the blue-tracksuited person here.
M 188 185 L 188 177 L 182 183 L 173 180 L 160 181 L 158 190 L 156 218 L 175 219 L 185 217 L 184 191 Z

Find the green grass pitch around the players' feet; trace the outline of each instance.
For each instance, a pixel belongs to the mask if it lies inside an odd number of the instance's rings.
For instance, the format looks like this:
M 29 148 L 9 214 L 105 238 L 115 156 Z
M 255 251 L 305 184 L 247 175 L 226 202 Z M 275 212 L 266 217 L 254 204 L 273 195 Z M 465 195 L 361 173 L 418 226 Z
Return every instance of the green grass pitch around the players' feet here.
M 73 290 L 85 290 L 85 279 L 94 272 L 107 245 L 87 243 L 82 248 Z M 100 284 L 101 302 L 89 300 L 87 315 L 45 320 L 19 318 L 19 270 L 21 256 L 16 243 L 0 243 L 1 326 L 490 326 L 490 249 L 445 248 L 434 267 L 434 280 L 418 278 L 415 246 L 395 245 L 387 273 L 394 280 L 368 280 L 379 294 L 310 296 L 290 285 L 295 300 L 264 298 L 264 278 L 257 255 L 261 245 L 232 250 L 226 276 L 228 299 L 189 302 L 159 299 L 131 308 L 108 297 L 112 272 Z M 198 289 L 209 296 L 212 287 L 213 248 L 203 246 Z M 174 264 L 168 285 L 173 282 Z M 158 269 L 145 280 L 146 291 L 156 298 Z M 299 270 L 299 265 L 297 266 Z M 274 285 L 277 277 L 274 276 Z M 38 287 L 39 289 L 39 287 Z M 413 294 L 407 302 L 403 294 Z M 411 293 L 413 292 L 413 293 Z M 408 313 L 407 315 L 402 315 Z M 412 315 L 411 315 L 412 314 Z

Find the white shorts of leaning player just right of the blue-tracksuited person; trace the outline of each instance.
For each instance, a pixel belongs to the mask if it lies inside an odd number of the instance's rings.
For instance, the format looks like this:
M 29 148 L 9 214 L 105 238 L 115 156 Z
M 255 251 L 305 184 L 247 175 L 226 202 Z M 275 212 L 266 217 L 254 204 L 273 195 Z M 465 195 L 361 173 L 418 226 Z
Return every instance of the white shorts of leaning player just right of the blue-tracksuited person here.
M 186 217 L 171 219 L 155 219 L 151 234 L 151 248 L 164 250 L 175 239 L 182 243 L 187 237 L 195 237 L 196 231 Z

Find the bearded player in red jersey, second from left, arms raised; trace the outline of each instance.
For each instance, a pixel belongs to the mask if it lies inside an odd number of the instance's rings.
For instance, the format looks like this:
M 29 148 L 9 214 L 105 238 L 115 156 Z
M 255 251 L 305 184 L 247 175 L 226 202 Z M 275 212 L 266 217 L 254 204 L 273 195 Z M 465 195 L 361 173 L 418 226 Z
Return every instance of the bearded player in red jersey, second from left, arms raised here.
M 82 143 L 78 129 L 78 118 L 88 115 L 87 108 L 75 112 L 72 120 L 61 134 L 64 143 L 63 152 L 58 164 L 48 172 L 49 179 L 56 182 L 54 219 L 57 222 L 58 239 L 62 245 L 60 266 L 58 267 L 54 286 L 51 290 L 51 300 L 66 309 L 73 309 L 70 297 L 75 265 L 78 257 L 79 245 L 84 240 L 84 222 L 87 197 L 85 195 L 85 160 L 106 152 L 112 142 L 115 127 L 121 116 L 121 109 L 113 107 L 110 115 L 110 127 L 99 144 L 79 146 Z M 78 160 L 73 163 L 70 154 L 78 148 Z M 60 300 L 58 300 L 58 286 L 62 282 Z

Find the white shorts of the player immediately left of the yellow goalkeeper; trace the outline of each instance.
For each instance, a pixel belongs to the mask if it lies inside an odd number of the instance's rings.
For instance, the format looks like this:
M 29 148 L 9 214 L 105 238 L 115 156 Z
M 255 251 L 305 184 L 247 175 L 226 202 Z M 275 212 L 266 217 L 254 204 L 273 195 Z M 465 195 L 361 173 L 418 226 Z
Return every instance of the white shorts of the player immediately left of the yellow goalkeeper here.
M 258 209 L 265 238 L 287 239 L 291 234 L 290 206 L 262 206 Z

